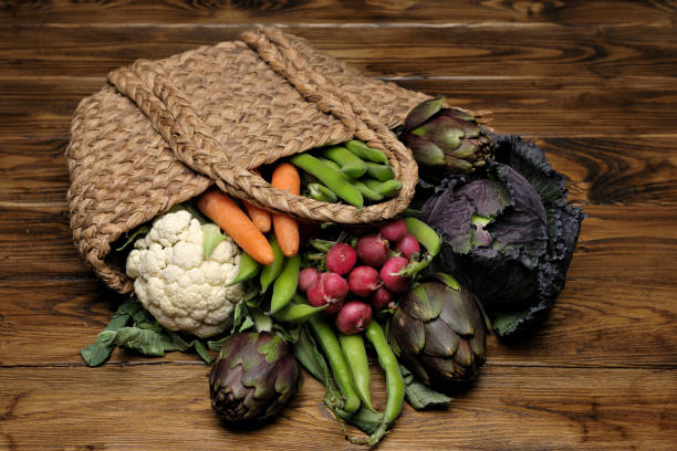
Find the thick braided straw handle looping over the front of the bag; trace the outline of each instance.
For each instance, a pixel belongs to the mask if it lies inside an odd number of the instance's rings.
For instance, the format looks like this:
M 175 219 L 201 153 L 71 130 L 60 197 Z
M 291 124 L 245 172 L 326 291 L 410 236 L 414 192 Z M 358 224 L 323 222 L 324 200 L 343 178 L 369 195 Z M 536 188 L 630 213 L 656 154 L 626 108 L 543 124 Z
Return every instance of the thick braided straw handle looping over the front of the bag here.
M 390 129 L 354 95 L 342 92 L 314 71 L 280 30 L 260 29 L 243 33 L 241 39 L 308 102 L 338 118 L 348 135 L 382 149 L 388 156 L 396 177 L 402 181 L 397 197 L 358 210 L 273 188 L 248 170 L 254 162 L 250 157 L 225 157 L 228 154 L 195 112 L 190 99 L 171 84 L 166 71 L 157 63 L 139 60 L 129 67 L 108 74 L 108 81 L 148 116 L 180 161 L 209 177 L 221 190 L 235 197 L 299 218 L 346 224 L 385 220 L 403 211 L 414 196 L 418 167 L 412 153 Z

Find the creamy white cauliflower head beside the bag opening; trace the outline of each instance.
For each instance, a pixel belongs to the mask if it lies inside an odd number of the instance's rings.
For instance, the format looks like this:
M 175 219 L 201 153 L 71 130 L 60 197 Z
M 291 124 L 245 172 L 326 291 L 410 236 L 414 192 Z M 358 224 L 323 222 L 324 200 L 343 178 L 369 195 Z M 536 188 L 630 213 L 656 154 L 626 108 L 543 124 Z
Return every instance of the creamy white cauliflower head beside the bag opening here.
M 143 306 L 170 331 L 200 338 L 232 326 L 242 284 L 226 286 L 240 266 L 240 248 L 226 237 L 205 259 L 200 221 L 179 209 L 156 218 L 127 256 L 127 275 Z

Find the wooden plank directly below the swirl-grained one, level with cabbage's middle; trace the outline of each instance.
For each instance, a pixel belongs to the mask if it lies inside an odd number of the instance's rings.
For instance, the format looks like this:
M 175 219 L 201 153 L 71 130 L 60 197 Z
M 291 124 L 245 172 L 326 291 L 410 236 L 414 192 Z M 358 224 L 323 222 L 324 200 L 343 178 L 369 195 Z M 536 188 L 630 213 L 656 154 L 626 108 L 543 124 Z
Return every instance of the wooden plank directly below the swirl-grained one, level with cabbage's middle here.
M 583 222 L 570 277 L 640 284 L 675 281 L 674 206 L 589 204 L 585 212 L 589 218 Z M 64 206 L 0 207 L 0 280 L 92 275 L 72 243 Z

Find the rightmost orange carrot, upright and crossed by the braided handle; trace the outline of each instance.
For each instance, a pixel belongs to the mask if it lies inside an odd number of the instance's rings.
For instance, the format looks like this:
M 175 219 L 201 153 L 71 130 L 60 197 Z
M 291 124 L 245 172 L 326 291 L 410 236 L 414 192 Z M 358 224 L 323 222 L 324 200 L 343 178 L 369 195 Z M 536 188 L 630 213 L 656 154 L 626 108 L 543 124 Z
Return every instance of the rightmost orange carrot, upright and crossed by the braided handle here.
M 283 189 L 292 195 L 301 192 L 301 176 L 296 168 L 289 162 L 279 164 L 273 170 L 270 182 L 274 188 Z M 299 252 L 299 223 L 289 214 L 273 213 L 273 231 L 278 244 L 285 256 L 293 256 Z

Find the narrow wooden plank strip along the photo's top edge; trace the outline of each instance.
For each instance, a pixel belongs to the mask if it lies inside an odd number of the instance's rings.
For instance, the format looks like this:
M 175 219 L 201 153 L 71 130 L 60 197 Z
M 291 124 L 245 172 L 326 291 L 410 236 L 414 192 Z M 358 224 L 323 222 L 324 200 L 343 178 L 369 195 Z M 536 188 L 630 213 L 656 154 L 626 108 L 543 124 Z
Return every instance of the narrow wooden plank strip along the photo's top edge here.
M 669 2 L 585 1 L 283 1 L 283 2 L 135 2 L 72 3 L 65 0 L 13 2 L 0 10 L 0 21 L 14 23 L 473 23 L 558 22 L 567 24 L 670 24 Z

